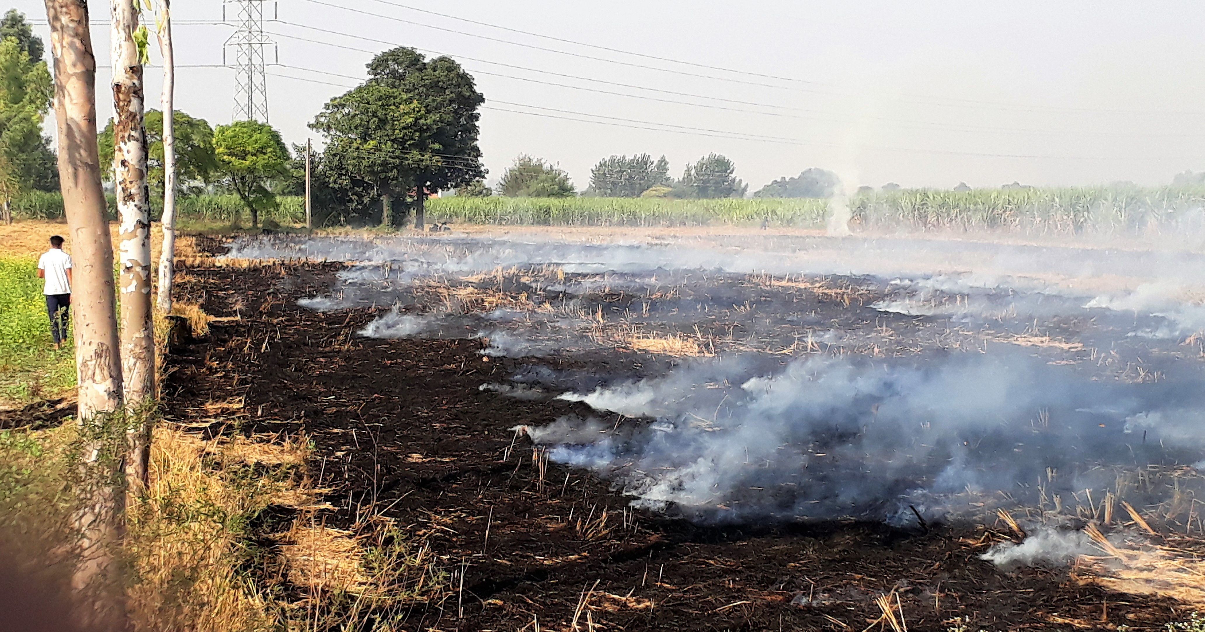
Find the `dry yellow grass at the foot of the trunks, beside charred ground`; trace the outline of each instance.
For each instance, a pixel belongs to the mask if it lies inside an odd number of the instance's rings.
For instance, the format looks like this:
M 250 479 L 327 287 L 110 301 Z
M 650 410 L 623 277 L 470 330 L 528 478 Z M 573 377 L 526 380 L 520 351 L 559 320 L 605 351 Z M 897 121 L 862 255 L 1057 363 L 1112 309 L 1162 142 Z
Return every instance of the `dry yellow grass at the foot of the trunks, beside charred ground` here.
M 229 402 L 223 402 L 229 403 Z M 378 630 L 447 578 L 425 545 L 362 508 L 349 530 L 328 526 L 306 476 L 304 436 L 200 436 L 155 429 L 151 488 L 130 509 L 141 630 Z M 269 507 L 293 509 L 281 533 L 255 532 Z M 253 542 L 276 542 L 264 548 Z

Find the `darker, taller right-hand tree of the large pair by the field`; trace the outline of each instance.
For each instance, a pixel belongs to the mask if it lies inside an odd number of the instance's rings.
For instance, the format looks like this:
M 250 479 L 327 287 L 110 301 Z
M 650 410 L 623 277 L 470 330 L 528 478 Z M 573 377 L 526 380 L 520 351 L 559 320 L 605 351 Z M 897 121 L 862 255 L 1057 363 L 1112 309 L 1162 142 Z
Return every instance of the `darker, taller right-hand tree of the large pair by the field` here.
M 428 147 L 434 160 L 412 170 L 415 228 L 422 230 L 428 193 L 486 177 L 477 146 L 478 108 L 486 98 L 477 91 L 472 76 L 448 57 L 427 60 L 413 48 L 399 47 L 372 58 L 368 67 L 369 83 L 406 93 L 425 108 L 434 124 Z

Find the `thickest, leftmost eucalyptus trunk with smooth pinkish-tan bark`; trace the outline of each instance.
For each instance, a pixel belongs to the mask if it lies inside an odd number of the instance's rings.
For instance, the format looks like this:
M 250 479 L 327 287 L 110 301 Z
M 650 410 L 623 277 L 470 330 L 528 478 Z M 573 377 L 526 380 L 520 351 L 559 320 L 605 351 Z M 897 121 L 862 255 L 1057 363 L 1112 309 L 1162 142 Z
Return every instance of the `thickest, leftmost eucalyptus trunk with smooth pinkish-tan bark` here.
M 104 430 L 122 413 L 122 365 L 113 314 L 113 244 L 108 236 L 105 194 L 96 150 L 96 59 L 92 51 L 86 0 L 46 0 L 54 55 L 54 118 L 58 128 L 59 181 L 71 236 L 72 320 L 75 323 L 78 419 L 82 445 L 78 565 L 72 577 L 82 615 L 102 627 L 120 621 L 119 599 L 102 599 L 106 586 L 119 585 L 113 553 L 122 537 L 124 495 L 118 469 L 106 459 Z M 99 474 L 98 474 L 99 473 Z

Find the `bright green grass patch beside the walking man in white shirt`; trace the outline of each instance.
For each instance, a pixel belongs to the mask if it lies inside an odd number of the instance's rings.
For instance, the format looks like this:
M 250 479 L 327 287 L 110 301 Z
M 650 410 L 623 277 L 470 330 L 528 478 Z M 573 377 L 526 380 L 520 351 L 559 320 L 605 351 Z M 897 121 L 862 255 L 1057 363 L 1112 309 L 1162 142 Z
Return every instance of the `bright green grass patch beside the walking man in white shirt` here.
M 0 403 L 57 397 L 75 386 L 70 344 L 55 350 L 37 259 L 0 258 Z

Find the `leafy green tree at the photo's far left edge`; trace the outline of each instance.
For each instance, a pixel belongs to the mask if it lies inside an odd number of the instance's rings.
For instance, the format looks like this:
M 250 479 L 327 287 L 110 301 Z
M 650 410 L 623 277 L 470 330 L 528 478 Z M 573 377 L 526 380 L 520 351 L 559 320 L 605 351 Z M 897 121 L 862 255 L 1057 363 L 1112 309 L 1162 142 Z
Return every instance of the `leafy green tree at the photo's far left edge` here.
M 17 37 L 0 40 L 0 206 L 6 220 L 13 195 L 51 179 L 45 172 L 53 154 L 42 136 L 51 94 L 46 63 L 30 59 Z

